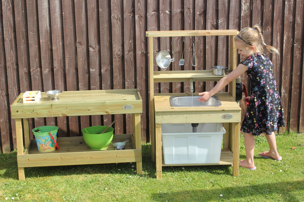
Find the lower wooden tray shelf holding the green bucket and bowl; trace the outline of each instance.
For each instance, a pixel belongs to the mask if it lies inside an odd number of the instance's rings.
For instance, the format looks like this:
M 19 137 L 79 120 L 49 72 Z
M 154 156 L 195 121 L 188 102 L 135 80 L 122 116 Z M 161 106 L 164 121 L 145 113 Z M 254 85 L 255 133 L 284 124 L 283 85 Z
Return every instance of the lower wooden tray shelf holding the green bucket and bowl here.
M 132 139 L 132 134 L 113 136 L 112 142 L 129 140 L 125 150 L 114 150 L 112 144 L 104 150 L 92 150 L 82 136 L 59 137 L 59 149 L 47 153 L 39 152 L 36 140 L 32 139 L 24 153 L 17 155 L 18 167 L 141 162 L 141 148 L 135 149 Z

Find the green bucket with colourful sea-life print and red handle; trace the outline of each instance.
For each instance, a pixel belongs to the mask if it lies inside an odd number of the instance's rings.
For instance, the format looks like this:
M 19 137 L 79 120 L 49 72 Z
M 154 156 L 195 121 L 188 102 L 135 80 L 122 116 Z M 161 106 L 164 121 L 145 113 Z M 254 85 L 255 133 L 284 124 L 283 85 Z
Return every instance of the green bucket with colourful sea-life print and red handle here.
M 57 126 L 40 126 L 36 127 L 33 130 L 33 134 L 36 139 L 36 144 L 38 147 L 38 151 L 40 152 L 51 152 L 56 149 L 56 145 L 52 138 L 50 137 L 49 132 L 54 137 L 55 141 L 58 134 Z

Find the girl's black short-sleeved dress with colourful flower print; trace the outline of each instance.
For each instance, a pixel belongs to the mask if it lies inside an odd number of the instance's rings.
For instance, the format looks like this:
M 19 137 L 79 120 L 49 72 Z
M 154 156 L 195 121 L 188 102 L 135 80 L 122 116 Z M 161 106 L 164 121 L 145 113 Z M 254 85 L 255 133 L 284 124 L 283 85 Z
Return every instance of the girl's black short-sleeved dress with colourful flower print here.
M 272 62 L 263 53 L 254 53 L 241 64 L 248 67 L 250 78 L 250 101 L 241 131 L 268 135 L 284 127 L 282 101 L 272 72 Z

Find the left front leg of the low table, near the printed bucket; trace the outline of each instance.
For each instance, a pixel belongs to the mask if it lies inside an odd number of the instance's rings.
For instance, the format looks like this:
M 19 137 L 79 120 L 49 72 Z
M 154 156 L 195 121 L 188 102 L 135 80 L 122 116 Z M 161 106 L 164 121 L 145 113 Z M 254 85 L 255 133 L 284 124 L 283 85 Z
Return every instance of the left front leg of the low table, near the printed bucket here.
M 23 137 L 22 137 L 22 119 L 16 119 L 16 141 L 17 141 L 17 159 L 18 155 L 23 154 Z M 25 180 L 24 167 L 18 165 L 19 180 Z

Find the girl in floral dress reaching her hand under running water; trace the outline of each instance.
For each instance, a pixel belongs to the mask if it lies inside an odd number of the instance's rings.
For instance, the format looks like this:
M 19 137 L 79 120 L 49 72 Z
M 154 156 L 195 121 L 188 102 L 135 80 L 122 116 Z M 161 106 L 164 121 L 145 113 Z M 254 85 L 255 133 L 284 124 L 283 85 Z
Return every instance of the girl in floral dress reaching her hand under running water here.
M 209 92 L 199 93 L 202 97 L 198 100 L 208 101 L 212 95 L 247 71 L 250 78 L 251 96 L 245 98 L 245 100 L 250 101 L 241 126 L 241 131 L 244 132 L 246 159 L 240 161 L 239 166 L 255 170 L 253 161 L 254 136 L 261 133 L 266 133 L 269 151 L 260 153 L 260 156 L 277 161 L 282 160 L 277 151 L 274 131 L 277 131 L 278 127 L 285 126 L 283 107 L 272 72 L 272 63 L 262 53 L 263 46 L 266 46 L 271 53 L 279 53 L 276 48 L 264 43 L 259 25 L 242 29 L 235 37 L 234 43 L 243 61 Z

